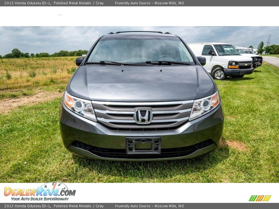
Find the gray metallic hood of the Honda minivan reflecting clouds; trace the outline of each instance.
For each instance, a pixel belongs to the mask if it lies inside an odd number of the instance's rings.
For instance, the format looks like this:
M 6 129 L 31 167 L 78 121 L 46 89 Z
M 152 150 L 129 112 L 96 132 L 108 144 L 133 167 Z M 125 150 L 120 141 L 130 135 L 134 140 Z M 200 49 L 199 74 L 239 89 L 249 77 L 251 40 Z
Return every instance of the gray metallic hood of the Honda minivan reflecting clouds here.
M 242 57 L 242 56 L 239 56 Z M 202 66 L 80 66 L 69 84 L 78 98 L 115 102 L 193 100 L 215 86 Z

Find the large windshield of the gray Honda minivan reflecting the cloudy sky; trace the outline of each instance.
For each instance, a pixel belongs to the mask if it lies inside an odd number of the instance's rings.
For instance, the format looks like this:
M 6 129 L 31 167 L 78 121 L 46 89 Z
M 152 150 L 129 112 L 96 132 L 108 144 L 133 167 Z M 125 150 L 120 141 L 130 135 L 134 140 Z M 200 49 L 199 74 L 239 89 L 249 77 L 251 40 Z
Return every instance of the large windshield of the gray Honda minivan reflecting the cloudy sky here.
M 112 61 L 144 63 L 175 61 L 195 64 L 186 46 L 178 37 L 110 36 L 102 37 L 87 62 Z

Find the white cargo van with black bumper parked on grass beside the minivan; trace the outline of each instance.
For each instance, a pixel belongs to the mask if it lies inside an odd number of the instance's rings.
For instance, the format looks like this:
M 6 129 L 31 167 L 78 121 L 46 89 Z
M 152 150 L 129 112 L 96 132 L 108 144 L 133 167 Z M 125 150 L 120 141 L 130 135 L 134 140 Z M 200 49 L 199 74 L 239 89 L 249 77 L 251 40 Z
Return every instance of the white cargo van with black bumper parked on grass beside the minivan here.
M 227 76 L 242 78 L 254 71 L 252 58 L 241 56 L 238 51 L 226 43 L 187 44 L 196 56 L 206 58 L 203 66 L 212 77 L 225 80 Z

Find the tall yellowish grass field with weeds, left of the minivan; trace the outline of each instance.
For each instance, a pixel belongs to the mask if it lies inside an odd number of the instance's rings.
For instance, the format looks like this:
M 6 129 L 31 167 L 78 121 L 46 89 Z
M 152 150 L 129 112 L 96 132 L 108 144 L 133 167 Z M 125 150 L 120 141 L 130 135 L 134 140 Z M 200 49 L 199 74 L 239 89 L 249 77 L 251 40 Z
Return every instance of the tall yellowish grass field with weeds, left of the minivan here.
M 35 89 L 63 91 L 76 57 L 0 59 L 0 100 L 30 96 Z

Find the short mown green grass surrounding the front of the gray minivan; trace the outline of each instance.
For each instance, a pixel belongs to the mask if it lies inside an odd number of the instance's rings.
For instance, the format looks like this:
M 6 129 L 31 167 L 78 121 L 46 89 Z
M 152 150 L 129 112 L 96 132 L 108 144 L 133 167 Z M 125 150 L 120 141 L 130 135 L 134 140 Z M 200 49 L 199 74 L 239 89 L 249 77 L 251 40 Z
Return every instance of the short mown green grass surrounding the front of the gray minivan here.
M 225 113 L 221 146 L 189 160 L 115 162 L 68 152 L 60 98 L 0 114 L 0 182 L 278 182 L 279 69 L 263 64 L 242 79 L 217 81 Z

